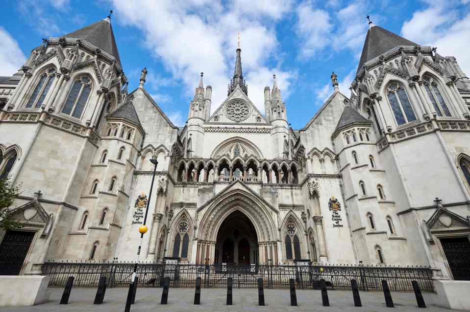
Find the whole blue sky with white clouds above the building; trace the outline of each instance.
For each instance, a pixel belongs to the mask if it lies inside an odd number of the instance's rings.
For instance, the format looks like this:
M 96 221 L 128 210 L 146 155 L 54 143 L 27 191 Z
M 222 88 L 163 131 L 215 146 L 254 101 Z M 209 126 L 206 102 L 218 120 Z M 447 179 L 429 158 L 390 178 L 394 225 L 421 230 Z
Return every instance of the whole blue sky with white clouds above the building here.
M 289 121 L 302 128 L 333 91 L 354 78 L 372 22 L 420 45 L 437 46 L 470 71 L 470 0 L 23 0 L 4 1 L 0 75 L 13 74 L 41 38 L 57 37 L 99 21 L 112 24 L 130 89 L 148 68 L 146 89 L 177 125 L 204 72 L 213 89 L 212 111 L 226 97 L 237 33 L 248 95 L 263 110 L 263 89 L 278 77 Z

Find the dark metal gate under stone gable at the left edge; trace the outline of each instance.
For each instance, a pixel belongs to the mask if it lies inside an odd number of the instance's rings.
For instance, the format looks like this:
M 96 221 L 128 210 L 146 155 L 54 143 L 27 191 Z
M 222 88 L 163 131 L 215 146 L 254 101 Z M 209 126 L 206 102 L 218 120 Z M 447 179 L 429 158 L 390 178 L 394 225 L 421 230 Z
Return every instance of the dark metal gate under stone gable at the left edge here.
M 20 274 L 35 232 L 8 230 L 0 245 L 0 275 Z

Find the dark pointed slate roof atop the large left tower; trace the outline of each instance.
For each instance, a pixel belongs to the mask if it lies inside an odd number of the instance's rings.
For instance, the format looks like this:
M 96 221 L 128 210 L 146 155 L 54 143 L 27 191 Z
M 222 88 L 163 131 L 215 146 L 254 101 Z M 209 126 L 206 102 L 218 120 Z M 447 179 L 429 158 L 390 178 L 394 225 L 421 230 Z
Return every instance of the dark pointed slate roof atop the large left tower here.
M 62 37 L 65 38 L 80 38 L 96 45 L 101 50 L 111 54 L 116 58 L 118 64 L 121 66 L 121 59 L 119 58 L 118 46 L 114 39 L 113 27 L 108 19 L 101 20 L 91 25 L 85 26 Z

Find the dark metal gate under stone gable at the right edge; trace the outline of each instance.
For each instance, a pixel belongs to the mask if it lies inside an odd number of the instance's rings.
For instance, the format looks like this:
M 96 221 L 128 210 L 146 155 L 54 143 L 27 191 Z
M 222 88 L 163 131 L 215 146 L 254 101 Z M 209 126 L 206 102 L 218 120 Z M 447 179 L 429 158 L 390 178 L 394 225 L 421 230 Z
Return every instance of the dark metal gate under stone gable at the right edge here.
M 441 238 L 441 245 L 454 280 L 470 280 L 470 241 L 468 237 Z

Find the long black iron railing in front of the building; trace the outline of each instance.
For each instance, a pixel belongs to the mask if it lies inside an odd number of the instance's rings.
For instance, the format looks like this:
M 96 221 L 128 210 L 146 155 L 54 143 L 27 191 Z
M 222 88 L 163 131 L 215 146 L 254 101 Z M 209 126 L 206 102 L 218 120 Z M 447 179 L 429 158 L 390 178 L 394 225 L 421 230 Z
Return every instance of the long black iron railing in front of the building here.
M 421 291 L 432 292 L 432 272 L 429 267 L 392 267 L 363 265 L 196 265 L 131 262 L 47 262 L 42 273 L 50 277 L 49 286 L 64 286 L 74 276 L 74 286 L 96 287 L 99 278 L 106 277 L 108 287 L 127 287 L 133 270 L 139 276 L 140 287 L 160 287 L 163 277 L 170 277 L 170 287 L 195 287 L 201 277 L 203 288 L 225 288 L 231 277 L 234 288 L 257 288 L 258 278 L 267 289 L 288 289 L 289 279 L 296 281 L 297 289 L 320 289 L 324 279 L 328 289 L 350 290 L 351 279 L 360 290 L 382 290 L 382 280 L 392 291 L 413 291 L 417 281 Z

